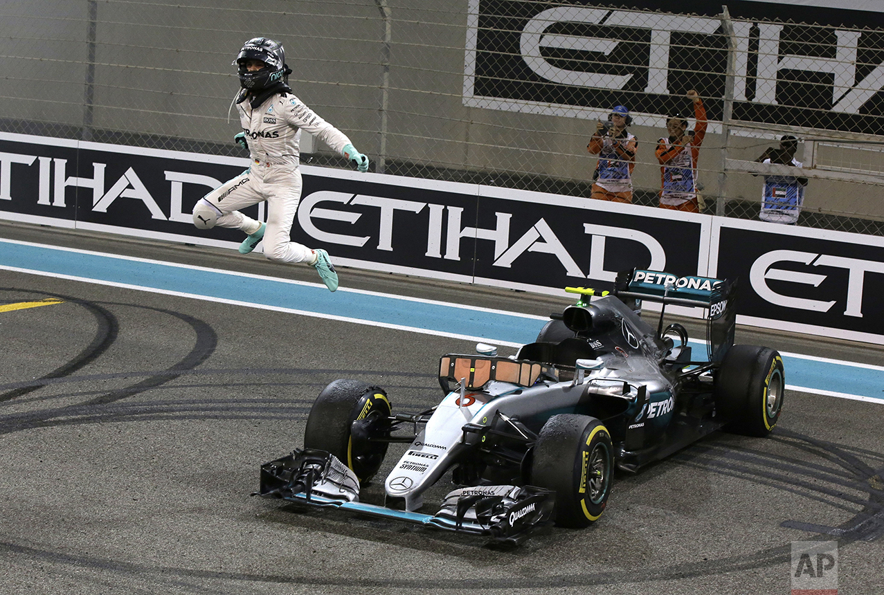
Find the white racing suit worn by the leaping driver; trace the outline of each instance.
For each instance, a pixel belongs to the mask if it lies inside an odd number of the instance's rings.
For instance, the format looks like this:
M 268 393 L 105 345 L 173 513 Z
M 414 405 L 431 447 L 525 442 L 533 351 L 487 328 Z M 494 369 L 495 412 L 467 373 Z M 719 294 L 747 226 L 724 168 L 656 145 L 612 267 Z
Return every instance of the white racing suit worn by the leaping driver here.
M 248 170 L 203 196 L 194 207 L 194 221 L 209 208 L 217 216 L 214 225 L 255 233 L 260 222 L 240 209 L 266 201 L 264 256 L 282 263 L 309 262 L 313 256 L 310 248 L 290 237 L 301 201 L 301 130 L 316 135 L 339 154 L 350 139 L 291 93 L 271 95 L 254 109 L 246 99 L 237 109 L 252 163 Z

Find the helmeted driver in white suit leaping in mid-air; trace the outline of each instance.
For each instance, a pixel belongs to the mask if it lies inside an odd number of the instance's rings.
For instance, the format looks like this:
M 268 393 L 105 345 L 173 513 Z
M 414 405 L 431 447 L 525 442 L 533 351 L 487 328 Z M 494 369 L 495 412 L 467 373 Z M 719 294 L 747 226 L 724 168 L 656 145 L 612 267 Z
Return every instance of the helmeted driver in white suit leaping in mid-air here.
M 240 91 L 233 99 L 240 112 L 242 132 L 234 141 L 248 149 L 251 164 L 220 187 L 205 195 L 194 207 L 194 225 L 211 229 L 215 225 L 240 229 L 247 238 L 240 254 L 248 254 L 263 240 L 263 251 L 271 261 L 307 263 L 331 291 L 338 288 L 338 273 L 323 248 L 307 248 L 291 241 L 294 215 L 301 202 L 301 130 L 314 134 L 331 149 L 353 161 L 360 172 L 369 169 L 369 158 L 353 142 L 316 115 L 293 95 L 288 86 L 292 69 L 286 65 L 281 43 L 266 37 L 248 40 L 233 65 L 240 77 Z M 232 104 L 233 104 L 232 103 Z M 267 202 L 267 223 L 240 212 L 258 202 Z

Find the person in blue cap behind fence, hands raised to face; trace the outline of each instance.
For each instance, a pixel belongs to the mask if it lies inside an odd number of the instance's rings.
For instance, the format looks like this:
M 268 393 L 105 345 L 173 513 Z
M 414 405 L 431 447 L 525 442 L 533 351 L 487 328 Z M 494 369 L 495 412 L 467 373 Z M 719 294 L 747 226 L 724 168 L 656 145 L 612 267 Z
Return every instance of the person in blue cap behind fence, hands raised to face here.
M 586 146 L 592 155 L 598 155 L 591 198 L 632 202 L 632 170 L 636 166 L 638 140 L 626 130 L 631 123 L 629 110 L 622 105 L 615 106 L 605 122 L 598 121 Z

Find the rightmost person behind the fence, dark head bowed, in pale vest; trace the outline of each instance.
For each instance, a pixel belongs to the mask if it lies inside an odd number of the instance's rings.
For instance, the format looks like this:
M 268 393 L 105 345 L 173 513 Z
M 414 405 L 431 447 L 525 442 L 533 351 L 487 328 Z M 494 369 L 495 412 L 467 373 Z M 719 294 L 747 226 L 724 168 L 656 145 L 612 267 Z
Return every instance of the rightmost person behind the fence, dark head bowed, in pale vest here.
M 770 147 L 756 159 L 762 164 L 791 165 L 802 167 L 795 158 L 798 139 L 786 134 L 780 139 L 779 147 Z M 752 174 L 758 175 L 758 174 Z M 804 187 L 807 178 L 788 175 L 766 175 L 765 186 L 761 191 L 761 212 L 758 218 L 772 223 L 794 225 L 804 206 Z

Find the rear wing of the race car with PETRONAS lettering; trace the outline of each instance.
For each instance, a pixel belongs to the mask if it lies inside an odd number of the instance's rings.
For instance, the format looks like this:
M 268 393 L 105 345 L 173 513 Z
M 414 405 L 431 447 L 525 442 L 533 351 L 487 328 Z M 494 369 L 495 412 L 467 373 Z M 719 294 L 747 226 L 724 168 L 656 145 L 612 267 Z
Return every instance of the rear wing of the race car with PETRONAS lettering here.
M 707 355 L 720 362 L 734 345 L 736 281 L 678 277 L 664 271 L 633 269 L 617 275 L 612 292 L 623 301 L 647 300 L 706 310 Z M 660 315 L 662 317 L 662 313 Z

